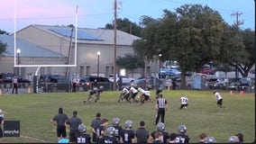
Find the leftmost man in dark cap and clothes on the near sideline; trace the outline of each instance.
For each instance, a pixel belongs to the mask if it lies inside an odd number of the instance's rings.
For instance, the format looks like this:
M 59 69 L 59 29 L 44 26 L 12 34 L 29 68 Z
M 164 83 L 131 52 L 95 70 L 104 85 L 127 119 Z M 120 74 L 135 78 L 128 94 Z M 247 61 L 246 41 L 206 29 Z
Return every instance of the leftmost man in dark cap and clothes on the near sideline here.
M 50 120 L 50 124 L 56 126 L 58 140 L 67 137 L 65 122 L 68 119 L 67 114 L 63 113 L 63 108 L 59 107 L 59 113 Z

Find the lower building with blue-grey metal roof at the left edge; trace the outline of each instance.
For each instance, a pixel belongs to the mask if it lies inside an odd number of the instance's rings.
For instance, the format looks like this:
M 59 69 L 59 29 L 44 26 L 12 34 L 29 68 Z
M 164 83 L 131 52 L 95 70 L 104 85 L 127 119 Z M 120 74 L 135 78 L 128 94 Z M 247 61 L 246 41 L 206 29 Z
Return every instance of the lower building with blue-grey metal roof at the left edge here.
M 0 40 L 6 43 L 5 53 L 0 60 L 0 73 L 14 73 L 23 77 L 32 75 L 36 67 L 14 67 L 14 36 L 0 34 Z M 67 61 L 66 56 L 59 55 L 59 53 L 50 49 L 44 49 L 27 40 L 16 38 L 16 48 L 20 50 L 19 55 L 16 55 L 17 65 L 36 65 L 42 62 L 44 64 L 52 62 L 55 64 L 65 64 Z

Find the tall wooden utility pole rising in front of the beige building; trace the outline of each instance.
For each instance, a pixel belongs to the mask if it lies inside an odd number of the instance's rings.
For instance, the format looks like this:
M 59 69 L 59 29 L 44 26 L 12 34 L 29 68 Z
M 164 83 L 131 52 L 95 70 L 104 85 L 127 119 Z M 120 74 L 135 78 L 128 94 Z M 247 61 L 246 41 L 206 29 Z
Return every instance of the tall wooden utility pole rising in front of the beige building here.
M 116 8 L 116 0 L 114 0 L 114 91 L 116 90 Z

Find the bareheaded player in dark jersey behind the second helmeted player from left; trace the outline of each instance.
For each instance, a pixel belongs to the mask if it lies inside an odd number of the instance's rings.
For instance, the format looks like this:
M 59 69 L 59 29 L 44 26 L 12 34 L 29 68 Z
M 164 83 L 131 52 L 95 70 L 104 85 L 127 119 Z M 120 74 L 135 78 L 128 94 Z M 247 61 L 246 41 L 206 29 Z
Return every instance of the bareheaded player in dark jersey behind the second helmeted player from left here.
M 101 124 L 96 128 L 96 143 L 104 144 L 105 128 L 108 125 L 107 119 L 102 119 Z

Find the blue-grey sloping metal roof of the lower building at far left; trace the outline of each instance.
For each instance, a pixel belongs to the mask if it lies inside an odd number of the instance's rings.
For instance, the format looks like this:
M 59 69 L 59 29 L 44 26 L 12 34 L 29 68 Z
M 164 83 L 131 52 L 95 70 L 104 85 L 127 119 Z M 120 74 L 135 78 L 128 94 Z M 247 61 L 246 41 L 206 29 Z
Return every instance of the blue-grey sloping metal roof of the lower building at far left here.
M 7 44 L 6 53 L 4 53 L 4 56 L 14 57 L 14 36 L 0 34 L 0 40 L 3 43 Z M 19 38 L 16 38 L 16 48 L 21 49 L 21 57 L 59 57 L 59 53 L 57 52 L 51 51 L 49 49 L 44 49 L 41 46 Z

